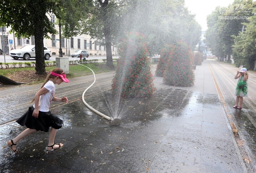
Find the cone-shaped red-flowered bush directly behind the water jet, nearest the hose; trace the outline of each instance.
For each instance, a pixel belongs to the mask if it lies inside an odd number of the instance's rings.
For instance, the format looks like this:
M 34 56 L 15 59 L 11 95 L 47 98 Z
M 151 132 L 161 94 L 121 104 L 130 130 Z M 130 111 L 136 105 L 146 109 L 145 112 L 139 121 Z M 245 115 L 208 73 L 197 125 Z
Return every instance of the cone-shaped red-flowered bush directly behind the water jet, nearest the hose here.
M 128 33 L 118 49 L 119 60 L 111 90 L 122 98 L 148 97 L 153 94 L 153 75 L 145 38 Z

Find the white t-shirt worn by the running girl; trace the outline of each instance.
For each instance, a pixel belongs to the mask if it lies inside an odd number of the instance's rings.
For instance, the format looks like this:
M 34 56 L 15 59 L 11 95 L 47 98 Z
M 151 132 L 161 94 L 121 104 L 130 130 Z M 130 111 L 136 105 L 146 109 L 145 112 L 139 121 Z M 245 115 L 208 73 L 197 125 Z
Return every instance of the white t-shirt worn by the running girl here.
M 48 112 L 50 104 L 53 100 L 54 93 L 55 93 L 55 84 L 53 81 L 48 81 L 46 84 L 43 86 L 44 88 L 48 89 L 49 92 L 45 93 L 44 95 L 40 95 L 39 98 L 39 111 L 41 112 Z M 35 108 L 35 104 L 33 105 Z

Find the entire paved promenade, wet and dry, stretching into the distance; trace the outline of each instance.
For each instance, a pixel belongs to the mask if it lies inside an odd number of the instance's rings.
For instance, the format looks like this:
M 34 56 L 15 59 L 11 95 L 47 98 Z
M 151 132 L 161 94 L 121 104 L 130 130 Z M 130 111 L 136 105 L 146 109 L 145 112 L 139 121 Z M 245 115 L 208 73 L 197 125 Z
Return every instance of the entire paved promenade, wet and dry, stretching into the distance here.
M 227 69 L 226 81 L 219 69 Z M 45 132 L 22 139 L 17 154 L 5 144 L 25 129 L 13 120 L 26 112 L 41 84 L 0 88 L 1 172 L 255 172 L 255 74 L 250 73 L 243 109 L 234 110 L 236 80 L 229 78 L 237 70 L 204 60 L 190 87 L 168 86 L 154 76 L 154 95 L 126 100 L 122 124 L 115 126 L 81 100 L 93 76 L 72 78 L 56 86 L 56 96 L 65 95 L 70 103 L 57 102 L 50 109 L 64 121 L 55 138 L 64 146 L 54 152 L 45 150 Z M 96 75 L 85 98 L 106 115 L 114 106 L 109 106 L 112 77 L 113 72 Z

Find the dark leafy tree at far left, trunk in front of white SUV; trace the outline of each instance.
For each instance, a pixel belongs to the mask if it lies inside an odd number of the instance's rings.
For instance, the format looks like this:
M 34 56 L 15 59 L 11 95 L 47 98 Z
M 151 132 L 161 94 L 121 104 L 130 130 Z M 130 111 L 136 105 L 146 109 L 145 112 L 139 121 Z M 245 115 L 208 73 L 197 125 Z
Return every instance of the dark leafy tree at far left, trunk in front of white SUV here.
M 55 34 L 53 23 L 46 14 L 57 13 L 54 0 L 5 0 L 0 3 L 0 25 L 11 26 L 16 37 L 35 36 L 36 74 L 46 74 L 44 64 L 44 37 Z

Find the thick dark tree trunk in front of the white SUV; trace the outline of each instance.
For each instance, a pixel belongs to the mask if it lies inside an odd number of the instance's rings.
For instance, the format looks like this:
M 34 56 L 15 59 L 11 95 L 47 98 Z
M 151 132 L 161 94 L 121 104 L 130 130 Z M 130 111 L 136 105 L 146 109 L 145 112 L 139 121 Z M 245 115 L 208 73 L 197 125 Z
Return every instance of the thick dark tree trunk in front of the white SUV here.
M 35 74 L 46 75 L 45 64 L 44 64 L 44 34 L 43 27 L 40 23 L 35 22 L 38 28 L 35 31 Z

